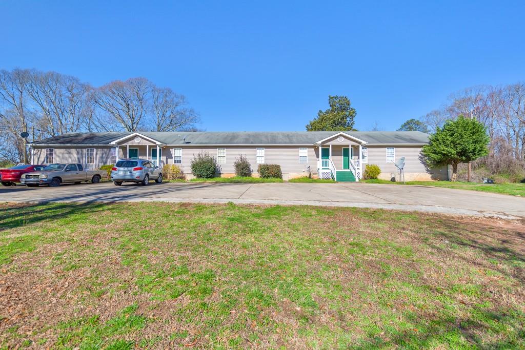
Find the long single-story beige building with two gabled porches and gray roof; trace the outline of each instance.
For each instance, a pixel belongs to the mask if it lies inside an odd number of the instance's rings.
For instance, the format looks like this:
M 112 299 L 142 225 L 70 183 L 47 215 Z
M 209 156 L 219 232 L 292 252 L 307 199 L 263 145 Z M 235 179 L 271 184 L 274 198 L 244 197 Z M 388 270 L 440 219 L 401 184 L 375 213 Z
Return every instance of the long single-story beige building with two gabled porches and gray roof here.
M 380 178 L 398 177 L 395 162 L 405 157 L 405 178 L 446 179 L 447 168 L 428 168 L 421 147 L 428 135 L 418 131 L 304 132 L 104 132 L 70 133 L 30 144 L 32 164 L 75 162 L 88 168 L 121 158 L 147 158 L 176 164 L 192 177 L 191 160 L 201 152 L 216 157 L 220 176 L 235 175 L 234 161 L 244 155 L 257 176 L 258 164 L 279 164 L 283 179 L 306 176 L 359 181 L 366 164 L 381 168 Z

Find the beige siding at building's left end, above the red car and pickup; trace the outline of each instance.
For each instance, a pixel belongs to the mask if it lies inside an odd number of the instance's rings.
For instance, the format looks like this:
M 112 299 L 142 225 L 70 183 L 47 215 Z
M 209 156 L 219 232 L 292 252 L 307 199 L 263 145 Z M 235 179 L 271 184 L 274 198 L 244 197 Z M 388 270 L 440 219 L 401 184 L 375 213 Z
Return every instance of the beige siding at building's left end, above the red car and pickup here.
M 46 148 L 54 150 L 54 163 L 80 163 L 88 169 L 96 169 L 111 162 L 110 147 L 43 147 L 34 149 L 34 164 L 45 164 Z M 95 164 L 86 164 L 86 150 L 88 148 L 95 149 Z

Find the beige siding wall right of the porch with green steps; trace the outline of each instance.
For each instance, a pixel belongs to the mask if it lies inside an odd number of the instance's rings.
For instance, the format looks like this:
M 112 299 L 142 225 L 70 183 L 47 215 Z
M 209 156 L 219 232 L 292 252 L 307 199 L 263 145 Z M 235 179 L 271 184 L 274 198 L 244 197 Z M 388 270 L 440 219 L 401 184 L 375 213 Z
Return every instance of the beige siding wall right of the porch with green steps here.
M 376 164 L 381 168 L 382 173 L 396 173 L 399 169 L 394 163 L 386 163 L 386 148 L 394 147 L 394 162 L 399 158 L 405 157 L 405 173 L 436 173 L 446 172 L 445 167 L 438 167 L 427 169 L 422 162 L 421 146 L 399 146 L 385 145 L 385 146 L 367 146 L 368 149 L 368 164 Z

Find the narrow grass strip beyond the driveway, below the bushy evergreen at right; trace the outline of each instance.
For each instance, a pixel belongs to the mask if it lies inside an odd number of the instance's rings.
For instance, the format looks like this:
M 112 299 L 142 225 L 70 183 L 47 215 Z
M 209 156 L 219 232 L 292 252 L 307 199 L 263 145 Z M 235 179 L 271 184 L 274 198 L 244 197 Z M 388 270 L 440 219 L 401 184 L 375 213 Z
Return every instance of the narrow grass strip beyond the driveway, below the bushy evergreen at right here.
M 420 185 L 420 186 L 437 186 L 445 188 L 469 189 L 474 191 L 500 193 L 512 196 L 525 196 L 525 184 L 507 183 L 507 184 L 477 184 L 472 182 L 451 182 L 451 181 L 407 181 L 391 182 L 387 180 L 373 179 L 363 180 L 369 184 L 396 184 L 396 185 Z

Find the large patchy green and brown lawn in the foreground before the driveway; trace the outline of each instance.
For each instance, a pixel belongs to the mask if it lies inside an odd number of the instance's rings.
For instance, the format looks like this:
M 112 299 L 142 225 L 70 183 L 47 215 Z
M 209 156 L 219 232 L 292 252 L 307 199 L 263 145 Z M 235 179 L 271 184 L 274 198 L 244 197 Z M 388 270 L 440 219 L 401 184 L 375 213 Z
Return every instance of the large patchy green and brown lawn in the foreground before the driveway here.
M 519 223 L 0 204 L 0 348 L 525 348 Z

